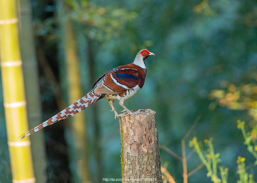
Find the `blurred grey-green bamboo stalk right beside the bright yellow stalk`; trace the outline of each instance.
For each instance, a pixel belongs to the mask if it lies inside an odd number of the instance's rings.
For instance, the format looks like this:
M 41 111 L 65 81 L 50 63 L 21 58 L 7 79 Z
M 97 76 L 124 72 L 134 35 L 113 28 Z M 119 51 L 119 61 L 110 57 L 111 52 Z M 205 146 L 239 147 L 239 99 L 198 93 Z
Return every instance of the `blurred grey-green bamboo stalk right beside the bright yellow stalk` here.
M 32 8 L 31 1 L 20 0 L 17 1 L 19 7 L 19 31 L 20 31 L 20 47 L 21 57 L 23 61 L 23 75 L 25 80 L 25 94 L 27 100 L 27 113 L 29 121 L 29 129 L 38 126 L 42 121 L 41 114 L 41 100 L 39 92 L 39 78 L 37 68 L 37 58 L 35 53 L 34 44 L 34 30 L 32 23 Z M 46 158 L 45 158 L 45 146 L 43 131 L 39 133 L 36 138 L 31 139 L 33 147 L 32 157 L 35 170 L 35 176 L 37 179 L 45 182 L 47 180 L 46 173 Z M 41 143 L 38 143 L 38 142 Z

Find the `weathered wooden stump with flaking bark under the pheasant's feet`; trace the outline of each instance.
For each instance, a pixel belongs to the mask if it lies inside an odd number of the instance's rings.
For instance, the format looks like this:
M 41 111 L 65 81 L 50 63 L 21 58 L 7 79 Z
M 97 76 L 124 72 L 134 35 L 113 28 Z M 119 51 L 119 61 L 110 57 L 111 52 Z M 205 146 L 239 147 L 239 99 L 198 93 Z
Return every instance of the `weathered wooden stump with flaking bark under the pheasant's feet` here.
M 121 116 L 122 182 L 162 182 L 155 112 Z

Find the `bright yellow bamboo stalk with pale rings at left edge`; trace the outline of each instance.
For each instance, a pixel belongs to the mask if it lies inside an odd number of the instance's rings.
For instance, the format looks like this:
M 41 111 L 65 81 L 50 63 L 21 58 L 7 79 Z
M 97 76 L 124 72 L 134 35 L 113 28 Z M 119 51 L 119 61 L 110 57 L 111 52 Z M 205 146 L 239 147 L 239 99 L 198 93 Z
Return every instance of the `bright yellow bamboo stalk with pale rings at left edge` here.
M 28 130 L 15 0 L 0 0 L 0 67 L 13 182 L 35 182 Z

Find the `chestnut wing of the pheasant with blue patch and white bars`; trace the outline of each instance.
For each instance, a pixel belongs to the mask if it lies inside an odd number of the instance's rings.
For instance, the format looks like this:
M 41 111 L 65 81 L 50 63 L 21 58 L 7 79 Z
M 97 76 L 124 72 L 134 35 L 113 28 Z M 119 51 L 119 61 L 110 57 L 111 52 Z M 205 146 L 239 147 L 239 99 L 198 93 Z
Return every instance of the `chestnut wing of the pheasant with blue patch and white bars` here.
M 107 72 L 94 89 L 96 93 L 119 94 L 138 84 L 139 73 L 132 68 L 117 68 Z M 99 80 L 100 81 L 100 80 Z

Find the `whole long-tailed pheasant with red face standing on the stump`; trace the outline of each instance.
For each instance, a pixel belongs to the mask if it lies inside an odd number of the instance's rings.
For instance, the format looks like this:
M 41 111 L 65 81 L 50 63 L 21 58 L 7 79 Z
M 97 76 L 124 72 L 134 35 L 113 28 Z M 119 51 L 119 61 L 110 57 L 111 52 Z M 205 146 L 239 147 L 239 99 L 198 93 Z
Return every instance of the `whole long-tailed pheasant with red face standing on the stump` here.
M 41 123 L 39 126 L 21 135 L 21 139 L 48 125 L 54 124 L 59 120 L 77 114 L 101 98 L 109 99 L 109 104 L 112 108 L 111 111 L 114 112 L 115 119 L 116 117 L 123 115 L 138 113 L 139 110 L 136 112 L 131 112 L 128 110 L 128 108 L 124 105 L 124 101 L 134 96 L 143 87 L 146 77 L 146 65 L 144 60 L 150 55 L 154 54 L 146 49 L 140 50 L 136 54 L 136 58 L 134 59 L 133 63 L 116 67 L 101 75 L 101 77 L 99 77 L 99 79 L 97 79 L 97 81 L 93 84 L 91 91 L 88 94 L 52 118 Z M 124 110 L 121 112 L 127 112 L 122 114 L 117 113 L 113 106 L 115 99 L 119 100 L 119 104 L 124 108 Z

